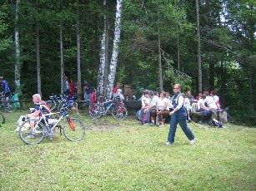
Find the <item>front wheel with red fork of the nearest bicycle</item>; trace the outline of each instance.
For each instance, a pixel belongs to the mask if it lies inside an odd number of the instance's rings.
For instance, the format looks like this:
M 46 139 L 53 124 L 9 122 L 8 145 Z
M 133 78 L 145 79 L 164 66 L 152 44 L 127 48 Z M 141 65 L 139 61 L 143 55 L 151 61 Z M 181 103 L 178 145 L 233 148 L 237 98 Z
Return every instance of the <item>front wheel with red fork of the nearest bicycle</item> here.
M 69 118 L 63 126 L 63 134 L 70 141 L 83 140 L 85 135 L 85 126 L 76 118 Z

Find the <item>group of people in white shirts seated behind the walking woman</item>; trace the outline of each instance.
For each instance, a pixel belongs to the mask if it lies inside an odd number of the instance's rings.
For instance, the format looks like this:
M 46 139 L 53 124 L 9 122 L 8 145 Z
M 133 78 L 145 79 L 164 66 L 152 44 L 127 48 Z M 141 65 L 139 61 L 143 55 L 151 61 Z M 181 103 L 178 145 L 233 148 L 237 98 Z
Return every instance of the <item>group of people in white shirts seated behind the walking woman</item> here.
M 192 104 L 196 103 L 196 108 L 194 111 L 202 112 L 204 115 L 204 122 L 208 122 L 212 119 L 212 114 L 214 111 L 220 108 L 219 98 L 216 96 L 215 91 L 208 91 L 199 93 L 197 99 L 191 94 L 191 91 L 187 91 L 187 94 L 181 93 L 184 97 L 183 106 L 187 110 L 188 122 L 191 121 L 190 112 L 192 111 Z M 142 108 L 138 115 L 138 120 L 140 120 L 141 125 L 156 125 L 156 119 L 158 117 L 159 127 L 164 126 L 164 120 L 168 118 L 170 110 L 173 110 L 173 100 L 168 92 L 161 91 L 143 91 L 143 96 L 141 98 Z

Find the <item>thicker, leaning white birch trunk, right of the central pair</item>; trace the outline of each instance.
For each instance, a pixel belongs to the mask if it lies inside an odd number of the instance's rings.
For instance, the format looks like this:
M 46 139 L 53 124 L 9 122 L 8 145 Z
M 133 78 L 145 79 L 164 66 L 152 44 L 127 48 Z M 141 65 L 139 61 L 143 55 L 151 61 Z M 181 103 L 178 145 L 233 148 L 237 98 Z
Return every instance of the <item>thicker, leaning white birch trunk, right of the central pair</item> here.
M 108 74 L 108 85 L 107 85 L 108 98 L 111 98 L 113 95 L 113 82 L 115 80 L 115 75 L 117 70 L 118 43 L 120 41 L 120 33 L 121 33 L 121 12 L 122 12 L 122 0 L 117 0 L 115 32 L 114 32 L 114 39 L 113 39 L 113 52 L 112 52 L 111 63 L 109 66 L 109 74 Z

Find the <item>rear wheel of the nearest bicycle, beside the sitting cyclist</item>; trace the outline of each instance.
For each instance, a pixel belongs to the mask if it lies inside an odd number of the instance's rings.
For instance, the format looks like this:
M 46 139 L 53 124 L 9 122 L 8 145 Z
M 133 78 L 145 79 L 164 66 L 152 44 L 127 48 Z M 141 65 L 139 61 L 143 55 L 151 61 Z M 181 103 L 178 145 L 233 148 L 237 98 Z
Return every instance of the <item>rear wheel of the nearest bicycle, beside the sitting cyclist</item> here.
M 31 132 L 32 131 L 32 132 Z M 30 120 L 25 120 L 19 128 L 19 137 L 25 144 L 39 144 L 47 135 L 46 126 L 39 122 L 33 130 L 30 129 Z M 31 135 L 28 135 L 31 133 Z

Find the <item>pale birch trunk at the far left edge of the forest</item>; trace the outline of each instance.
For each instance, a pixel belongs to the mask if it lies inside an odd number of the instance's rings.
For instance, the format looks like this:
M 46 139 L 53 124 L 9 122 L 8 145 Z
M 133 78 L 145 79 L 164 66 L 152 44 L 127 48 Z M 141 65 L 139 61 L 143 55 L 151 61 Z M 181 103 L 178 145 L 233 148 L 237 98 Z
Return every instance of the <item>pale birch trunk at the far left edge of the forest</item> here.
M 15 92 L 20 93 L 20 47 L 19 47 L 19 32 L 18 32 L 18 14 L 19 14 L 19 5 L 20 0 L 16 1 L 16 10 L 15 10 L 15 32 L 14 32 L 14 41 L 15 41 L 15 55 L 16 55 L 16 63 L 15 63 Z

